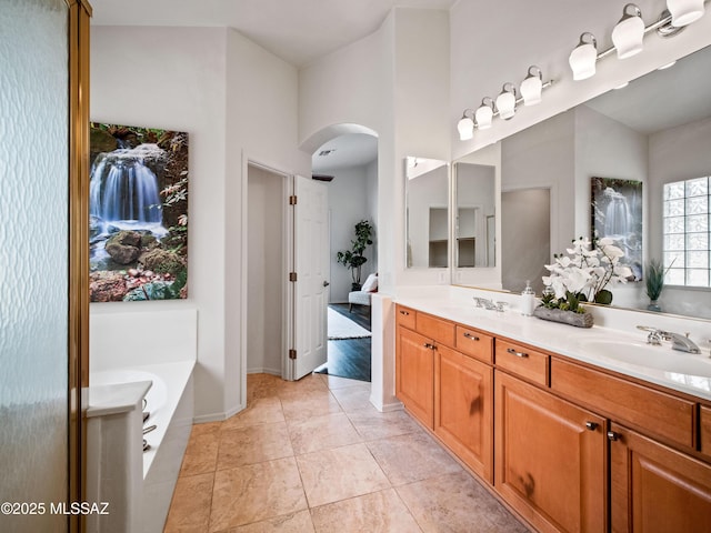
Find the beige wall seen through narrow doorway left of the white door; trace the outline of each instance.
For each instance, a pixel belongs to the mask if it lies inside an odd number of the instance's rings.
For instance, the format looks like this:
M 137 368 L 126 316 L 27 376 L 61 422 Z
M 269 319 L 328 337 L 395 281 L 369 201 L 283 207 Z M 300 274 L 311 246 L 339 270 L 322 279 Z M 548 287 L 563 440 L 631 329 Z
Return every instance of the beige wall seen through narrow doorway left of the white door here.
M 248 172 L 247 372 L 281 375 L 287 180 L 258 167 Z

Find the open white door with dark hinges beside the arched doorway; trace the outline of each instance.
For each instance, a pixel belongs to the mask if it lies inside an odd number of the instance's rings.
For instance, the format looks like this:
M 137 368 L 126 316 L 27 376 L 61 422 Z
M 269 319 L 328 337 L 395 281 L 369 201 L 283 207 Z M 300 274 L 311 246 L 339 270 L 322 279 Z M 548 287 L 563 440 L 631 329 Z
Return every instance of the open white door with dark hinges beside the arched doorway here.
M 328 189 L 323 183 L 294 177 L 294 285 L 292 380 L 326 363 L 329 273 Z

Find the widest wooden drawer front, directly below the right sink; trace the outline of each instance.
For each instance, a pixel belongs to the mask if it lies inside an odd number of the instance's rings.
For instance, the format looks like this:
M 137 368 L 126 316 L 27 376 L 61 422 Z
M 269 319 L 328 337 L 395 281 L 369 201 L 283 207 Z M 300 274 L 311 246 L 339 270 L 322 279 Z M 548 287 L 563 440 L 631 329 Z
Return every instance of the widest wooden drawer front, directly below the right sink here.
M 555 358 L 551 361 L 551 389 L 645 433 L 695 447 L 693 402 Z

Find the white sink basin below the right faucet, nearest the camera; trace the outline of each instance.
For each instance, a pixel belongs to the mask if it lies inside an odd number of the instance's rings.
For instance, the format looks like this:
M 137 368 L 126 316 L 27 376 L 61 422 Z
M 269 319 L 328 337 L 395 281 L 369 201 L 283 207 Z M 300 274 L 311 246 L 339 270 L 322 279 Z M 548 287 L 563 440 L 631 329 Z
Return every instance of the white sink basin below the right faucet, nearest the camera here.
M 644 369 L 711 378 L 711 359 L 707 355 L 672 350 L 670 346 L 653 346 L 644 342 L 587 340 L 581 342 L 583 353 L 614 360 Z

